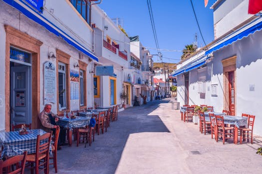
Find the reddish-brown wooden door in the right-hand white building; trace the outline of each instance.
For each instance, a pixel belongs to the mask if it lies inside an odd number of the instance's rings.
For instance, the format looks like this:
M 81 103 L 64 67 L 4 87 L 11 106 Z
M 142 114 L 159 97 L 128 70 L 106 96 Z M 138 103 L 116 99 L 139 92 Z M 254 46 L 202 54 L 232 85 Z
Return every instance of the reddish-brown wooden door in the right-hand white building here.
M 235 72 L 229 72 L 229 110 L 231 115 L 235 114 Z

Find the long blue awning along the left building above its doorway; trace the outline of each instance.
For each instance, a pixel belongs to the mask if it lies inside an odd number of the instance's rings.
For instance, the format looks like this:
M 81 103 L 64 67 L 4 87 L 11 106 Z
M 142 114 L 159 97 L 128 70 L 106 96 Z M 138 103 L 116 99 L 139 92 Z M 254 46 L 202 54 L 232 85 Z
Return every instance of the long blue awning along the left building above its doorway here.
M 63 38 L 69 45 L 72 45 L 74 48 L 76 48 L 77 50 L 79 50 L 83 54 L 89 56 L 93 60 L 98 61 L 98 58 L 94 54 L 92 54 L 91 51 L 89 51 L 87 48 L 85 48 L 83 45 L 81 45 L 79 42 L 77 42 L 71 36 L 66 34 L 64 31 L 62 31 L 60 28 L 58 28 L 56 25 L 54 25 L 52 22 L 50 22 L 48 19 L 46 19 L 38 11 L 36 11 L 31 6 L 29 6 L 24 1 L 19 0 L 19 3 L 15 0 L 3 0 L 3 1 L 5 3 L 9 4 L 10 6 L 16 8 L 18 11 L 23 13 L 29 19 L 31 19 L 31 20 L 35 21 L 36 23 L 42 25 L 51 33 L 55 34 L 58 37 Z

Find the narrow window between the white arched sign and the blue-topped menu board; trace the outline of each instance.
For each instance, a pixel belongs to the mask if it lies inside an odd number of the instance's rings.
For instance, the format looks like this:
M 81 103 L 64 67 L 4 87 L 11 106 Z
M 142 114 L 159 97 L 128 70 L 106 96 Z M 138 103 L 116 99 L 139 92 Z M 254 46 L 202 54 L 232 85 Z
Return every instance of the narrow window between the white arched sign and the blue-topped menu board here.
M 58 63 L 59 110 L 66 109 L 65 64 Z

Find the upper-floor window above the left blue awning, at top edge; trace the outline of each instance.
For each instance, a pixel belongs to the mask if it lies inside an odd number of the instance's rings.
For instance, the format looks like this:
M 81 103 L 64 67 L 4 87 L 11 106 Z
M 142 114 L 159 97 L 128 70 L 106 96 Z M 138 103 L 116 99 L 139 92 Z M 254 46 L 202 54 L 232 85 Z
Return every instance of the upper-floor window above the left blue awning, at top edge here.
M 75 9 L 81 14 L 85 21 L 90 24 L 90 0 L 70 0 Z

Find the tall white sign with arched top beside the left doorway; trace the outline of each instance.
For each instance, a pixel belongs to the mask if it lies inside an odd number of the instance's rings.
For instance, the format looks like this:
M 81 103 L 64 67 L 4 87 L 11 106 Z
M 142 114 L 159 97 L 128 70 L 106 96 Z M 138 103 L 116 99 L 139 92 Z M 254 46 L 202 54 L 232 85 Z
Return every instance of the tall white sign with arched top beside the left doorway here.
M 55 103 L 55 67 L 51 62 L 44 63 L 44 104 Z

